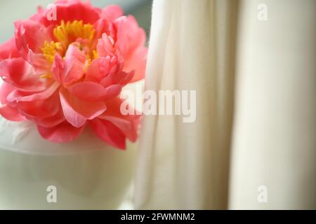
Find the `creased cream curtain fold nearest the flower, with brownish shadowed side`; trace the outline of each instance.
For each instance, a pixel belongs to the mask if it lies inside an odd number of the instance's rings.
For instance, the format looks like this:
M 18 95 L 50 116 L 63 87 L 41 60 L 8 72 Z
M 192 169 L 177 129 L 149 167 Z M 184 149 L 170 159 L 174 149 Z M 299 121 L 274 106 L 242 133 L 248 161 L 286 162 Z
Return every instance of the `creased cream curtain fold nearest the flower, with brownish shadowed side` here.
M 180 116 L 144 118 L 138 208 L 227 207 L 235 4 L 154 1 L 145 88 L 197 90 L 197 115 L 194 123 Z

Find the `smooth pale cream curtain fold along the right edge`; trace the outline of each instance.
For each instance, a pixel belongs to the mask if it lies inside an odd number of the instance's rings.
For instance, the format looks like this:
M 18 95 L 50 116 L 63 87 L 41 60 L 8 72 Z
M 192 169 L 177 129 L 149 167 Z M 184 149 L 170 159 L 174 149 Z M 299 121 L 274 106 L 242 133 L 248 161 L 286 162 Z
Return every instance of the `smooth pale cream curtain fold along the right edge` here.
M 316 1 L 241 1 L 238 18 L 230 208 L 316 209 Z

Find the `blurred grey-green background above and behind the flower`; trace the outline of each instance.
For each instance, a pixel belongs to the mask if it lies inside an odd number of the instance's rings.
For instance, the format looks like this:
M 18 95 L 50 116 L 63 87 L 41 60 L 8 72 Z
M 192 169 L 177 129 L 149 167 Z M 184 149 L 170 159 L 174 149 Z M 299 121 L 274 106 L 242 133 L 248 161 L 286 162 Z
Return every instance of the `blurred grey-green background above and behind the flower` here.
M 46 8 L 53 0 L 1 0 L 0 1 L 0 43 L 7 41 L 14 34 L 13 22 L 27 19 L 37 11 L 37 6 Z M 152 0 L 91 0 L 93 6 L 104 8 L 110 4 L 117 4 L 124 9 L 125 15 L 134 15 L 140 27 L 143 27 L 149 36 L 150 14 Z

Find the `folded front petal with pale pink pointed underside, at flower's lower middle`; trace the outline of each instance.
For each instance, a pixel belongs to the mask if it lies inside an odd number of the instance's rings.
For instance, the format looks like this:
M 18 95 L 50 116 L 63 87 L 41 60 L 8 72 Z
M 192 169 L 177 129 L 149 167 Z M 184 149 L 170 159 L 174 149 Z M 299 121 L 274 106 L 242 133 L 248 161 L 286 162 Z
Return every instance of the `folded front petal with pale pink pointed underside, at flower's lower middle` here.
M 81 127 L 106 111 L 104 102 L 87 102 L 74 97 L 68 90 L 60 89 L 60 102 L 65 118 L 74 127 Z

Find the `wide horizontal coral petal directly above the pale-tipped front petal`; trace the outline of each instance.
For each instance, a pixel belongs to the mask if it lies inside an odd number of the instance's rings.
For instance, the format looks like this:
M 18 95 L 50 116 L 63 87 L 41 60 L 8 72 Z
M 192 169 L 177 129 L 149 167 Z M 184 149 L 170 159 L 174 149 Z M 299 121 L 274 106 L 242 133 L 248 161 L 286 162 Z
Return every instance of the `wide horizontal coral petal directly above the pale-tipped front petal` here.
M 68 90 L 81 100 L 89 102 L 105 101 L 117 97 L 121 93 L 121 85 L 103 87 L 98 83 L 81 82 L 72 85 Z

